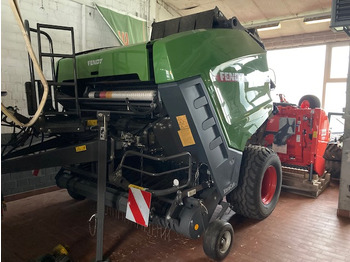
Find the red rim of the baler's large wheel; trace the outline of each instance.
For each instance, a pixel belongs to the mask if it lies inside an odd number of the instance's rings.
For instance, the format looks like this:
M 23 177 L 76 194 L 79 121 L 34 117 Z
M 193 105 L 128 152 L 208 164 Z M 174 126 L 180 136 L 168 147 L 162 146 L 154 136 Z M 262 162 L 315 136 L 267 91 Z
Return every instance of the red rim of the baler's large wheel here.
M 261 184 L 261 201 L 267 205 L 273 199 L 277 187 L 277 172 L 273 166 L 269 166 L 264 174 Z

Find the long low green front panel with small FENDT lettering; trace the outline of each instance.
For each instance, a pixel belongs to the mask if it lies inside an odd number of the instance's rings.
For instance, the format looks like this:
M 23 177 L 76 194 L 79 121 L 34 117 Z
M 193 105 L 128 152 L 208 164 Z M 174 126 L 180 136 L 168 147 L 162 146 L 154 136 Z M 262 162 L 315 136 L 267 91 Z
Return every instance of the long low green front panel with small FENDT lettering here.
M 73 59 L 61 59 L 57 69 L 58 82 L 74 79 L 73 68 Z M 141 81 L 149 81 L 150 77 L 146 43 L 78 54 L 76 68 L 78 79 L 135 74 Z

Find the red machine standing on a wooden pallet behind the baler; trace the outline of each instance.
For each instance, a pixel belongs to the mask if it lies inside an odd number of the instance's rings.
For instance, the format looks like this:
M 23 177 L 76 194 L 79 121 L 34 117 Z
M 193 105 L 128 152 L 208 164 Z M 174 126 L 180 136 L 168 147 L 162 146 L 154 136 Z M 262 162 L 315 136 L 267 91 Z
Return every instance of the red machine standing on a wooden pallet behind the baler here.
M 283 187 L 317 197 L 330 180 L 323 158 L 330 137 L 328 117 L 312 95 L 302 97 L 299 106 L 281 97 L 275 106 L 278 112 L 268 120 L 264 143 L 278 153 Z

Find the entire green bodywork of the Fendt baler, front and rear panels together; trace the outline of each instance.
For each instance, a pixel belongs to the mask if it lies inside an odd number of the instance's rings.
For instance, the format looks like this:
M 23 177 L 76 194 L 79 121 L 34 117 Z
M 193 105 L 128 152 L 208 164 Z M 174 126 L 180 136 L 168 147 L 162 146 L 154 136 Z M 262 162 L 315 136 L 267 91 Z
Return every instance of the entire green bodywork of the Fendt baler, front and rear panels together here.
M 272 111 L 265 49 L 240 29 L 199 29 L 147 43 L 77 55 L 78 79 L 137 75 L 165 84 L 200 76 L 228 145 L 243 151 Z M 58 81 L 73 79 L 73 60 L 58 63 Z

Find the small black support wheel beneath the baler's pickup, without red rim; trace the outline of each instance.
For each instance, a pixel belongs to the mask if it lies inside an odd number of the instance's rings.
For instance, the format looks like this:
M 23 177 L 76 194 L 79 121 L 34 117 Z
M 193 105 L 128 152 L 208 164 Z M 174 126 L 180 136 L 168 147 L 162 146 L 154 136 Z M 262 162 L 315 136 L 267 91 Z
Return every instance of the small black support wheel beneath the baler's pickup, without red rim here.
M 205 230 L 203 250 L 211 259 L 223 260 L 230 253 L 232 243 L 233 228 L 228 222 L 215 220 Z

